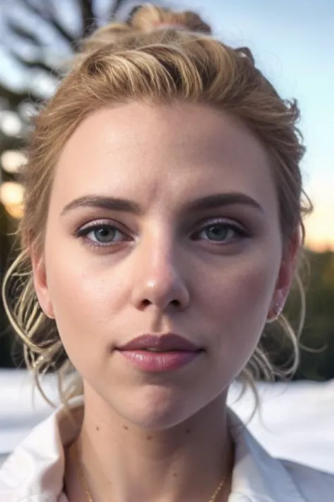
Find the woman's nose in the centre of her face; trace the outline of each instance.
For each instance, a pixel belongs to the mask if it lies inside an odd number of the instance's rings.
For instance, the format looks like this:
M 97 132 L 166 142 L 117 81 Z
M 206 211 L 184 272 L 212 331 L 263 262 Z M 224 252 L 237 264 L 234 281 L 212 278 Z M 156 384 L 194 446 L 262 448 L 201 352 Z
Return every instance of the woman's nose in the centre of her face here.
M 137 251 L 132 303 L 137 309 L 154 307 L 159 311 L 184 310 L 190 294 L 184 266 L 171 245 L 153 239 Z

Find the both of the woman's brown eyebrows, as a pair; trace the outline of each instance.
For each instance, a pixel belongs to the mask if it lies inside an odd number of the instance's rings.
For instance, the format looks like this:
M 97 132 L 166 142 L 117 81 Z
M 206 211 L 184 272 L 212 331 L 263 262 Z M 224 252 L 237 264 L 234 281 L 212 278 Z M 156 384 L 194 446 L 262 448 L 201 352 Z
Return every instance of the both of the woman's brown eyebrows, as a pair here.
M 201 211 L 208 209 L 222 208 L 226 205 L 247 205 L 249 207 L 260 210 L 264 213 L 261 204 L 254 200 L 254 198 L 247 196 L 245 193 L 229 192 L 229 193 L 214 193 L 212 195 L 195 199 L 190 201 L 183 207 L 183 211 Z M 76 198 L 74 201 L 66 204 L 61 211 L 61 214 L 68 213 L 70 210 L 77 208 L 100 208 L 109 211 L 119 211 L 121 213 L 132 213 L 134 215 L 141 215 L 143 213 L 140 205 L 128 199 L 87 195 Z

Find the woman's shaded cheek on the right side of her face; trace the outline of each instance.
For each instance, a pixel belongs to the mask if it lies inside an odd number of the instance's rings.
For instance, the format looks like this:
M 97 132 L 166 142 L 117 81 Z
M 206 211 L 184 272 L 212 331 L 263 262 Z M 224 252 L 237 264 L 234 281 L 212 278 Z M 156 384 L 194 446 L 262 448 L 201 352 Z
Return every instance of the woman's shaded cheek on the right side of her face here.
M 214 357 L 231 365 L 233 372 L 241 371 L 259 342 L 278 267 L 278 257 L 256 252 L 216 268 L 206 280 L 198 279 L 202 284 L 202 316 L 213 327 Z

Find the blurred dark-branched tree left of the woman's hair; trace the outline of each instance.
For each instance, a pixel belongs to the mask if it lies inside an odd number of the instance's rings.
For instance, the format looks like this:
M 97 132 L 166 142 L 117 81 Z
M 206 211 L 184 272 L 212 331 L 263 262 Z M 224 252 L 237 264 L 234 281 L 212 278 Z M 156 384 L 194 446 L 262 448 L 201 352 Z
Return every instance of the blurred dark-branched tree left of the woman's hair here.
M 129 0 L 11 0 L 0 3 L 0 186 L 15 181 L 3 169 L 4 152 L 23 147 L 37 104 L 51 97 L 79 42 L 114 16 Z M 135 2 L 140 4 L 140 1 Z M 0 201 L 0 283 L 8 264 L 15 221 Z M 0 367 L 12 366 L 13 339 L 0 300 Z

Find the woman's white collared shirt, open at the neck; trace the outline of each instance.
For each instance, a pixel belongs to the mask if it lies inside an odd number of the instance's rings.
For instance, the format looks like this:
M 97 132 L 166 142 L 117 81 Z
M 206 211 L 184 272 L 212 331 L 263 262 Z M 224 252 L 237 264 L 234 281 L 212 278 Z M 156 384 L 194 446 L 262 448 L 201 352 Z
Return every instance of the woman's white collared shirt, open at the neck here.
M 82 398 L 33 429 L 0 468 L 0 502 L 68 502 L 63 493 L 64 446 L 78 435 Z M 271 457 L 230 412 L 235 442 L 228 502 L 334 502 L 334 476 Z

